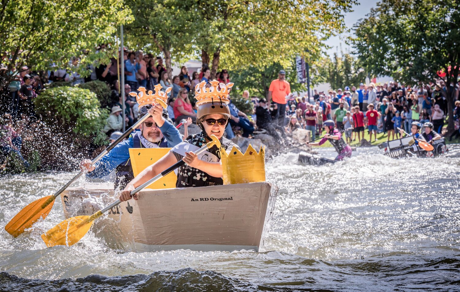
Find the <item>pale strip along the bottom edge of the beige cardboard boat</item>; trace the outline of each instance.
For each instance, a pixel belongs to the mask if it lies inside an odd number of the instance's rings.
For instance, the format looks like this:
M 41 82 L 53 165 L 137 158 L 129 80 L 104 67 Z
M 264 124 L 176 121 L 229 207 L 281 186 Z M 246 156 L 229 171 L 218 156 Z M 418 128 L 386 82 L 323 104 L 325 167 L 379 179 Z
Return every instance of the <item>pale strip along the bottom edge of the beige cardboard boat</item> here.
M 235 246 L 235 245 L 224 245 L 224 244 L 174 244 L 174 245 L 148 245 L 144 243 L 134 242 L 132 243 L 123 242 L 124 246 L 134 247 L 136 252 L 169 252 L 178 249 L 190 249 L 198 252 L 234 252 L 244 250 L 254 250 L 259 252 L 259 246 Z

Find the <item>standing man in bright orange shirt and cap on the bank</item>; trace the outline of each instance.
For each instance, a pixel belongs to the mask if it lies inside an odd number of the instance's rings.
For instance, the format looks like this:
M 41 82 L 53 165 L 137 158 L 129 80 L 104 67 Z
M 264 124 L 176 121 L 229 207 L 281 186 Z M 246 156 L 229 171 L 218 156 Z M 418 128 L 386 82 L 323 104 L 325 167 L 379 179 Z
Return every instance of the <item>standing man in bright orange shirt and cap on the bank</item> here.
M 278 79 L 271 81 L 268 89 L 268 103 L 276 103 L 275 119 L 278 119 L 278 124 L 284 127 L 284 118 L 286 116 L 286 96 L 291 93 L 291 85 L 285 80 L 286 72 L 280 70 Z

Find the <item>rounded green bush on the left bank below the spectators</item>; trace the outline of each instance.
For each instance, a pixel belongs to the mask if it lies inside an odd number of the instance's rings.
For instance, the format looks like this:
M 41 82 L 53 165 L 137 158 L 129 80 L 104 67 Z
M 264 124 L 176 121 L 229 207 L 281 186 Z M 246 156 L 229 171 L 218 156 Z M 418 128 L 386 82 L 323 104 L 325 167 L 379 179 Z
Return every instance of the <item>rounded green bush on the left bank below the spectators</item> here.
M 93 139 L 102 145 L 102 132 L 109 116 L 101 109 L 96 94 L 78 87 L 55 87 L 47 89 L 34 99 L 35 110 L 48 126 L 59 129 L 57 135 L 73 133 L 79 139 Z

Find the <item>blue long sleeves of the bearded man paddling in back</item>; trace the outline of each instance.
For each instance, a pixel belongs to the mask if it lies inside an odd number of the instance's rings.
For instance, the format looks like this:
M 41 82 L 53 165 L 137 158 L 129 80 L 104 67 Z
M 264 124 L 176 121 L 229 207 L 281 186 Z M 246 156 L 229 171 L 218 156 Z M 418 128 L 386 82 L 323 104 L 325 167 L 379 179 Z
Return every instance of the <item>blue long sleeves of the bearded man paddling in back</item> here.
M 166 138 L 168 142 L 168 147 L 174 147 L 178 143 L 182 142 L 182 136 L 179 133 L 179 130 L 176 129 L 170 122 L 165 120 L 163 126 L 160 127 L 161 133 Z M 101 158 L 98 162 L 94 164 L 95 169 L 92 172 L 86 174 L 86 177 L 89 178 L 101 178 L 109 175 L 117 166 L 122 162 L 129 159 L 129 149 L 134 147 L 134 140 L 129 137 L 128 140 L 121 141 L 114 149 Z

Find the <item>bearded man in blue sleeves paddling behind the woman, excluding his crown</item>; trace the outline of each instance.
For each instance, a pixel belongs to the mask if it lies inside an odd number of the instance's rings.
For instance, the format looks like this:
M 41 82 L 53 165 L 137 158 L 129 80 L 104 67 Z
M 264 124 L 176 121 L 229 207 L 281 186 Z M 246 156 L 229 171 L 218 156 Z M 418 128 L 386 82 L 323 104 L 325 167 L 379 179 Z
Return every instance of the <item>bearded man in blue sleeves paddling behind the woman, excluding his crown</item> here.
M 150 112 L 151 117 L 144 121 L 128 140 L 120 142 L 101 160 L 91 165 L 91 160 L 80 162 L 80 169 L 88 171 L 86 177 L 105 177 L 115 169 L 115 189 L 124 189 L 133 178 L 130 148 L 172 148 L 182 142 L 178 129 L 169 121 L 167 111 L 159 103 L 145 105 L 139 109 L 138 119 Z

